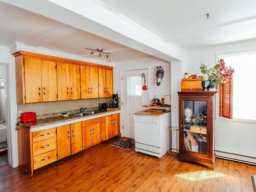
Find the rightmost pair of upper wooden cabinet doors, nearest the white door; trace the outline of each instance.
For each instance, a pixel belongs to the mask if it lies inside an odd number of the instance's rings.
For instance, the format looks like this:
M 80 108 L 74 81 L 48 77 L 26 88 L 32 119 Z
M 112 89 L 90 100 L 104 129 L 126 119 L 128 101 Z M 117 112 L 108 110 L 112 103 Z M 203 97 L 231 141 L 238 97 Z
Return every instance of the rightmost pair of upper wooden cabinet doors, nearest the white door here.
M 99 98 L 111 97 L 113 95 L 112 70 L 99 69 Z

